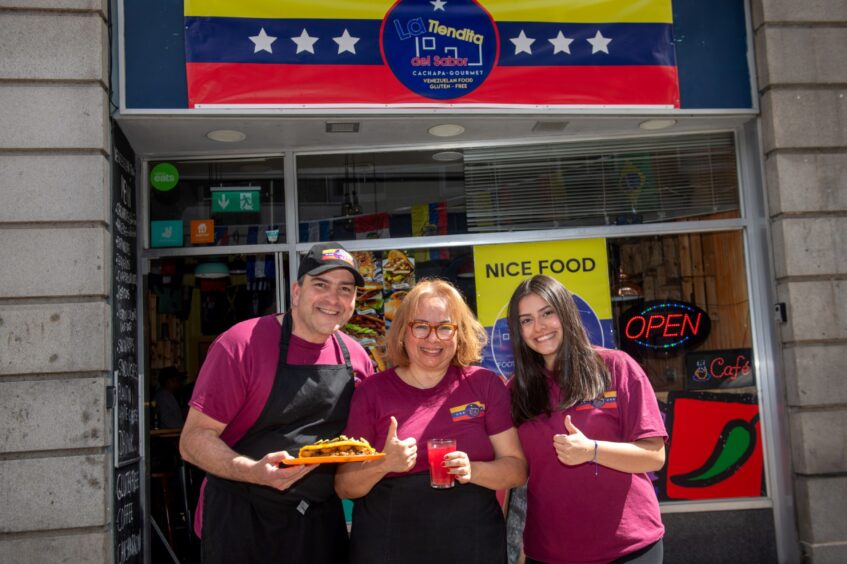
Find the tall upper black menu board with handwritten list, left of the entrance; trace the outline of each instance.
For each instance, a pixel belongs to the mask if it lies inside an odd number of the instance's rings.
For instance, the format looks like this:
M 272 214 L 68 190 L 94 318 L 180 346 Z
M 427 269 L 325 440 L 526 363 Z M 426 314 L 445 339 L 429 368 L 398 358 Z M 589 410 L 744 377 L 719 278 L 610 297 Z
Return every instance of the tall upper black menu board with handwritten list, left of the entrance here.
M 112 358 L 115 386 L 115 467 L 141 456 L 138 379 L 135 154 L 112 128 Z

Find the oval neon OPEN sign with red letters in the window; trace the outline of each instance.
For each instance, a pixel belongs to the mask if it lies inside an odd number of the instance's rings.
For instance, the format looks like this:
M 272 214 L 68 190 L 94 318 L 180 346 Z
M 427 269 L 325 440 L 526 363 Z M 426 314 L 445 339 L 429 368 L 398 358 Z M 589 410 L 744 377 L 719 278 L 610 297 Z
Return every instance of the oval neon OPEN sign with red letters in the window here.
M 699 307 L 676 300 L 645 302 L 621 316 L 623 338 L 652 350 L 687 349 L 709 336 L 712 321 Z

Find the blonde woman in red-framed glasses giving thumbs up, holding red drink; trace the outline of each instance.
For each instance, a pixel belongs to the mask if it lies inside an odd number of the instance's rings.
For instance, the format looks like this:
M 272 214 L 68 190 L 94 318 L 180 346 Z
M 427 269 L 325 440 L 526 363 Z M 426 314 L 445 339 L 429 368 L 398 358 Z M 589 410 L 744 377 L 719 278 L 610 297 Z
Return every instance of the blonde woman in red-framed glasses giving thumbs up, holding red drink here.
M 355 563 L 505 563 L 506 530 L 496 490 L 526 481 L 506 387 L 479 362 L 485 329 L 461 294 L 423 280 L 387 335 L 394 368 L 362 382 L 344 434 L 385 453 L 342 464 L 339 496 L 355 500 Z M 443 457 L 454 487 L 430 486 L 428 439 L 455 439 Z

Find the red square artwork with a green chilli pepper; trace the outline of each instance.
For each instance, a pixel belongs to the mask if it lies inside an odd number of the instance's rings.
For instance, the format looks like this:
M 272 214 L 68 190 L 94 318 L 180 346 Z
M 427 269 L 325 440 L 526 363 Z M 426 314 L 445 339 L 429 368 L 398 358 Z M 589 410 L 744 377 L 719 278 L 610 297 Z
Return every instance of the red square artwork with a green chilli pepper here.
M 758 497 L 763 491 L 759 406 L 751 394 L 671 392 L 663 499 Z

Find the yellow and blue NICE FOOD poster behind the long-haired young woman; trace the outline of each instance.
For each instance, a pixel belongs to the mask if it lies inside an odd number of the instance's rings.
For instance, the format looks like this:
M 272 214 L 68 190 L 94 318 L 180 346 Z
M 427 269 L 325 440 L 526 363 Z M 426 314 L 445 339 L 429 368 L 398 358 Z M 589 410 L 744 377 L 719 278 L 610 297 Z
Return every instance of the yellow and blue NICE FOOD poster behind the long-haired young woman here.
M 504 380 L 515 370 L 509 335 L 509 298 L 536 274 L 559 280 L 574 295 L 588 338 L 614 348 L 605 239 L 474 247 L 477 316 L 488 332 L 482 365 Z

